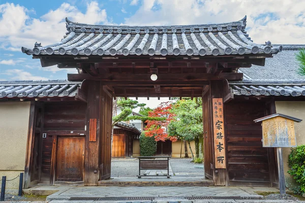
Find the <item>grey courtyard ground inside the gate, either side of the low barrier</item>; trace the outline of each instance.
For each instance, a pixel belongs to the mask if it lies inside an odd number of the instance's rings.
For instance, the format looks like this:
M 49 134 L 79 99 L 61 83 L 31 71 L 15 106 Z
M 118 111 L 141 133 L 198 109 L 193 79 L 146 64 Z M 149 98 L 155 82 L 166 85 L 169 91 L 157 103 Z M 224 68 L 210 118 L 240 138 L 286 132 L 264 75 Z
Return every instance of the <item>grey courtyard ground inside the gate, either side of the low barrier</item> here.
M 193 163 L 190 158 L 172 158 L 169 160 L 173 176 L 204 176 L 203 163 Z M 200 167 L 201 166 L 201 167 Z M 158 170 L 160 171 L 160 170 Z M 144 171 L 142 171 L 143 173 Z M 139 160 L 133 158 L 112 159 L 111 176 L 134 177 L 139 173 Z

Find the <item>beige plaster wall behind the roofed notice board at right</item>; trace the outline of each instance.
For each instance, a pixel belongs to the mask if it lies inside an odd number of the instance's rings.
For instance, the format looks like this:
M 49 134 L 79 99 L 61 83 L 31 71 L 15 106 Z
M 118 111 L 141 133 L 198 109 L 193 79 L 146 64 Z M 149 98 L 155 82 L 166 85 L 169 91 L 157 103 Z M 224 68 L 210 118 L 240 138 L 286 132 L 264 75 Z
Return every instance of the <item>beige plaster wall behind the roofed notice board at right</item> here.
M 276 111 L 277 113 L 285 114 L 303 120 L 300 123 L 295 122 L 294 125 L 297 145 L 305 145 L 305 101 L 276 101 Z M 287 173 L 287 171 L 289 170 L 289 154 L 290 148 L 283 148 L 286 187 L 292 189 L 296 185 L 296 182 Z

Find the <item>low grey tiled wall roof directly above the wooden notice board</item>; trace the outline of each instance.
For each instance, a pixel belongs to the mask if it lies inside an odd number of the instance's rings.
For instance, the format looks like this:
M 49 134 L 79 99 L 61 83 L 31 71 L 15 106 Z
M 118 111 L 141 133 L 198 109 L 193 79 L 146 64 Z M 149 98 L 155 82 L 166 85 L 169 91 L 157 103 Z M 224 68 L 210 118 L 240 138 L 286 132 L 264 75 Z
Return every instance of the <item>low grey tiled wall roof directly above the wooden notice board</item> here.
M 234 95 L 245 96 L 305 96 L 305 80 L 229 82 Z

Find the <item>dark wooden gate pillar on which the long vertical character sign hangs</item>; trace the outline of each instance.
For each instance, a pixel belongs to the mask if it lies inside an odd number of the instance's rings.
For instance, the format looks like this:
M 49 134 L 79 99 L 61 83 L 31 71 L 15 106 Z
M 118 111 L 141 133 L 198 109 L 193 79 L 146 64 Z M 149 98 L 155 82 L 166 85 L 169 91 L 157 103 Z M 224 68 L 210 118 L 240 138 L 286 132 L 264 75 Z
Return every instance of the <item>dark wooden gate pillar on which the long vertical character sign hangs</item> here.
M 219 80 L 219 81 L 210 81 L 210 103 L 212 103 L 212 98 L 224 98 L 224 81 Z M 213 104 L 210 104 L 211 108 L 211 114 L 210 114 L 210 125 L 211 125 L 211 133 L 214 133 L 214 122 L 213 122 L 213 111 L 215 111 L 213 109 Z M 224 108 L 223 108 L 224 109 Z M 223 113 L 223 119 L 225 119 L 225 112 Z M 224 120 L 223 124 L 224 127 L 226 127 L 226 121 Z M 215 139 L 215 135 L 213 134 L 213 136 L 211 136 L 212 139 Z M 227 143 L 226 143 L 226 131 L 224 131 L 224 152 L 225 152 L 225 157 L 227 157 Z M 211 143 L 214 143 L 215 140 L 213 140 Z M 218 186 L 228 186 L 228 181 L 227 181 L 227 158 L 225 158 L 226 160 L 226 168 L 216 168 L 216 150 L 214 147 L 214 151 L 213 151 L 213 177 L 214 177 L 214 184 L 218 185 Z

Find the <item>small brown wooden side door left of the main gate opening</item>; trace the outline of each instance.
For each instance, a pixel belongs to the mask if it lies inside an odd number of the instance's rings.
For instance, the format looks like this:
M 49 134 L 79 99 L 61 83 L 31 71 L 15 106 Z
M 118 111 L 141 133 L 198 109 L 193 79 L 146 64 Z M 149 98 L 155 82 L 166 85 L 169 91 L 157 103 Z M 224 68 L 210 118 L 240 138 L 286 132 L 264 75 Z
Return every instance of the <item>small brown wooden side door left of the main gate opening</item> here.
M 57 136 L 56 181 L 82 181 L 85 137 Z

